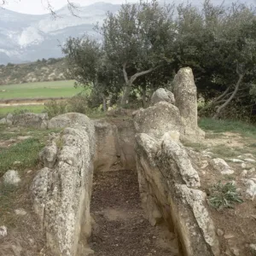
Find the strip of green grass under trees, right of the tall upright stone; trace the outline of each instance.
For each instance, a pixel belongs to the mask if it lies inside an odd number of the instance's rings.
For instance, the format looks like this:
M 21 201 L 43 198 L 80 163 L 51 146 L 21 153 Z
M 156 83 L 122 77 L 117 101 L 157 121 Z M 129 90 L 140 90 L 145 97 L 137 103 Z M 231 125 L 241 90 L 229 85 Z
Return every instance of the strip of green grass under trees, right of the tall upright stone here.
M 247 124 L 245 122 L 236 120 L 216 120 L 203 118 L 199 121 L 199 126 L 205 131 L 214 132 L 236 132 L 240 133 L 244 137 L 255 137 L 256 138 L 256 126 L 252 124 Z

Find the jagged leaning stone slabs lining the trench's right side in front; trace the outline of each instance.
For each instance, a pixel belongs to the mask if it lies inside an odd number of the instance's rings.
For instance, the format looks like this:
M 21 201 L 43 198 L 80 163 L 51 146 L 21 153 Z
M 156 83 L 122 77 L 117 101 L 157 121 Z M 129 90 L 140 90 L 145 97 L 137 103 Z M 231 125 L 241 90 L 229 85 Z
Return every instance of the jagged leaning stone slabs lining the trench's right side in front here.
M 140 191 L 150 223 L 165 220 L 177 232 L 186 255 L 219 255 L 206 195 L 195 189 L 200 178 L 183 146 L 170 136 L 136 138 Z

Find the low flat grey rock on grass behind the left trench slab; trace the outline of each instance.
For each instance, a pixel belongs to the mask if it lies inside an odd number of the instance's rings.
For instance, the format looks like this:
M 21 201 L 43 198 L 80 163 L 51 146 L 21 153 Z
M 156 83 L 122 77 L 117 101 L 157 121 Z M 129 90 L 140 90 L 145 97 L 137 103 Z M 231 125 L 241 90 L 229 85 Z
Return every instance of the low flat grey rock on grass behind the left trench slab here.
M 45 129 L 48 113 L 21 113 L 11 118 L 12 125 Z

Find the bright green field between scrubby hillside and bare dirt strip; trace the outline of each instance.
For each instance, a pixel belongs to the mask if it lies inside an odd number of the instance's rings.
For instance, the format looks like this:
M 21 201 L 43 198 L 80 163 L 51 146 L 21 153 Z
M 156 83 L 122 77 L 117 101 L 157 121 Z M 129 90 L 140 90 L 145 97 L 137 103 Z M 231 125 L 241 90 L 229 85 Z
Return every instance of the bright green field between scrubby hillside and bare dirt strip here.
M 74 88 L 74 81 L 54 81 L 0 86 L 0 100 L 20 98 L 71 97 L 82 88 Z

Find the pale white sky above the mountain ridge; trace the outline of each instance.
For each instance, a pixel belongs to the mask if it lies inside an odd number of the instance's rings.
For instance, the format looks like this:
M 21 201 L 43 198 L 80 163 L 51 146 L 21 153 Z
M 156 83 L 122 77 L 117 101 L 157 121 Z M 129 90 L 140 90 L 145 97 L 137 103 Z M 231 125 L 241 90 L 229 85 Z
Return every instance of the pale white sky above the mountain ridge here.
M 80 5 L 90 5 L 91 3 L 107 2 L 107 3 L 125 3 L 125 0 L 72 0 L 72 3 L 79 3 Z M 129 0 L 130 3 L 136 3 L 137 0 Z M 1 0 L 0 0 L 1 3 Z M 67 4 L 67 0 L 49 0 L 54 9 L 61 9 Z M 47 0 L 8 0 L 4 6 L 5 9 L 10 9 L 15 12 L 30 14 L 30 15 L 43 15 L 49 13 L 46 9 Z

